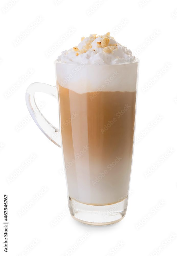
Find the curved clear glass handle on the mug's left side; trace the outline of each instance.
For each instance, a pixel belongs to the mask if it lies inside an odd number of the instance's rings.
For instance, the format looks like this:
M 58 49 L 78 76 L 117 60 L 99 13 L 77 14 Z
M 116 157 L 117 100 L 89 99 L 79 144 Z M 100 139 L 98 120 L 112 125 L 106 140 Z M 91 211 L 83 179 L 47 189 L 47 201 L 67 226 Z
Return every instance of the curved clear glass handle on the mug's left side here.
M 56 86 L 45 83 L 32 83 L 26 91 L 26 104 L 30 115 L 39 129 L 51 140 L 55 145 L 61 148 L 60 129 L 52 125 L 40 112 L 34 99 L 35 92 L 44 92 L 57 99 Z

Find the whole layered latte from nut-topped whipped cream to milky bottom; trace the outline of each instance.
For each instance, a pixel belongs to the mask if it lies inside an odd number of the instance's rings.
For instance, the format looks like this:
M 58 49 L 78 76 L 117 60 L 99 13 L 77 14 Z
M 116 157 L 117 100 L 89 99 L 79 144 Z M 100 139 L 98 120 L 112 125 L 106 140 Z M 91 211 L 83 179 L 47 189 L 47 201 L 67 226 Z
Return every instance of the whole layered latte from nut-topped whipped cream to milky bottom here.
M 138 60 L 107 33 L 81 38 L 55 65 L 69 200 L 127 203 Z

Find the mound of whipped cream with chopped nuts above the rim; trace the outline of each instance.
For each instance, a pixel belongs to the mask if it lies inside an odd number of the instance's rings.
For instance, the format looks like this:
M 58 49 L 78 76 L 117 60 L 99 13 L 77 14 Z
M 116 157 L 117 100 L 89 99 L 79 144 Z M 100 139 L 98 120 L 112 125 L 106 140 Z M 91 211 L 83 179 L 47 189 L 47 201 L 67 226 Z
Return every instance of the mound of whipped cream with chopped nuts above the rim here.
M 78 46 L 63 51 L 58 61 L 76 65 L 116 65 L 134 62 L 135 57 L 108 32 L 103 36 L 82 37 Z

